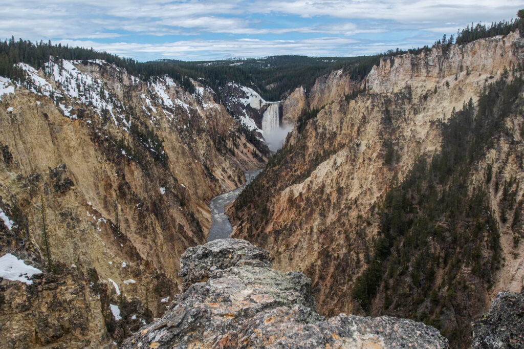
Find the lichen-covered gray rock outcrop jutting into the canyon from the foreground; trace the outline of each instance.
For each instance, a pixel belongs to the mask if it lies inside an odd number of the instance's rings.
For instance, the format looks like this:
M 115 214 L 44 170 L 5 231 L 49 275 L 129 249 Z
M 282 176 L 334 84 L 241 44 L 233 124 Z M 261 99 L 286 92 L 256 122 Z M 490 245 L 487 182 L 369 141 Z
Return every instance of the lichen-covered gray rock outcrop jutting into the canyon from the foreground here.
M 191 247 L 180 264 L 184 292 L 122 348 L 449 347 L 439 331 L 411 320 L 345 314 L 324 320 L 309 278 L 271 269 L 269 253 L 241 239 Z

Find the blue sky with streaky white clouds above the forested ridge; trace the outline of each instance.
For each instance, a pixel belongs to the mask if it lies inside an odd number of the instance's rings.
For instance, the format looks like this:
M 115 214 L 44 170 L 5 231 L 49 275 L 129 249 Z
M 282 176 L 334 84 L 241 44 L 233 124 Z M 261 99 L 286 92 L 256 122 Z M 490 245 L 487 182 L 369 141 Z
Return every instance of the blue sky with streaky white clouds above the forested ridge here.
M 514 0 L 0 0 L 0 39 L 94 48 L 139 61 L 361 56 L 432 45 L 510 20 Z

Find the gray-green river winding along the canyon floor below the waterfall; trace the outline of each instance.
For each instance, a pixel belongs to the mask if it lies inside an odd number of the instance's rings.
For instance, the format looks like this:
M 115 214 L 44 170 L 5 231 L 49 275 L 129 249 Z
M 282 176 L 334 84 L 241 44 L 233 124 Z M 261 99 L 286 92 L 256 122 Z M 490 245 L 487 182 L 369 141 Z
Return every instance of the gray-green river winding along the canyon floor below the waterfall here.
M 260 173 L 262 169 L 248 171 L 245 173 L 246 176 L 246 185 L 257 177 L 257 174 Z M 244 189 L 245 186 L 236 188 L 235 190 L 228 191 L 227 193 L 217 195 L 211 199 L 209 208 L 211 209 L 211 216 L 213 223 L 211 224 L 211 229 L 209 230 L 208 241 L 216 239 L 225 239 L 230 237 L 233 227 L 227 217 L 225 212 L 225 206 L 236 199 L 238 194 Z

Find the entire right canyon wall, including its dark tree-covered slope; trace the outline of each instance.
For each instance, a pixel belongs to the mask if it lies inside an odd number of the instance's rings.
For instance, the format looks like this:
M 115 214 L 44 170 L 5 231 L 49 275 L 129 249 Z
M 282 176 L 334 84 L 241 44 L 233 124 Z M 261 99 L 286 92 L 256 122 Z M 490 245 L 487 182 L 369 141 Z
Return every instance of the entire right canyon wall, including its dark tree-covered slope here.
M 512 33 L 382 59 L 364 92 L 333 94 L 293 130 L 230 211 L 233 236 L 310 277 L 321 314 L 408 317 L 466 346 L 490 298 L 524 277 L 522 44 Z M 479 111 L 489 118 L 470 126 Z M 453 149 L 469 151 L 462 173 Z

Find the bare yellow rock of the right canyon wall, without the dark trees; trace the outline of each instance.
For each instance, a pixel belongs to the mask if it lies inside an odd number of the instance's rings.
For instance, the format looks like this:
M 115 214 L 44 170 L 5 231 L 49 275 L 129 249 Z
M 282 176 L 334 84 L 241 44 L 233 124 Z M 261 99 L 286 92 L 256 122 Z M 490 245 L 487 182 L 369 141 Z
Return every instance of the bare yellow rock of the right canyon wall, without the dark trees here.
M 310 277 L 322 314 L 358 313 L 351 290 L 380 228 L 373 215 L 376 204 L 420 154 L 439 151 L 439 123 L 470 98 L 475 103 L 486 82 L 496 81 L 522 59 L 521 47 L 522 39 L 512 33 L 454 45 L 447 54 L 433 48 L 417 56 L 385 58 L 362 83 L 366 91 L 349 102 L 343 94 L 351 92 L 352 84 L 344 74 L 333 72 L 318 80 L 308 103 L 324 108 L 301 134 L 293 130 L 287 143 L 293 149 L 287 157 L 291 160 L 282 160 L 260 182 L 268 212 L 259 215 L 262 211 L 254 205 L 232 211 L 238 217 L 232 236 L 268 249 L 276 268 Z M 289 103 L 291 114 L 307 104 L 300 90 L 292 96 L 297 102 Z M 517 143 L 522 142 L 523 123 L 522 115 L 515 115 L 508 124 Z M 397 151 L 391 163 L 386 161 L 387 141 Z M 481 183 L 488 163 L 499 169 L 499 181 L 511 176 L 521 181 L 521 160 L 509 149 L 501 139 L 478 163 L 472 182 Z M 494 185 L 487 190 L 498 211 L 500 191 Z M 517 198 L 522 190 L 520 186 Z M 492 296 L 501 289 L 520 291 L 524 277 L 522 258 L 514 258 L 524 252 L 522 243 L 515 246 L 509 225 L 499 223 L 506 262 L 489 290 Z M 490 297 L 485 299 L 476 307 L 487 307 Z M 373 314 L 380 313 L 381 304 L 375 304 Z

